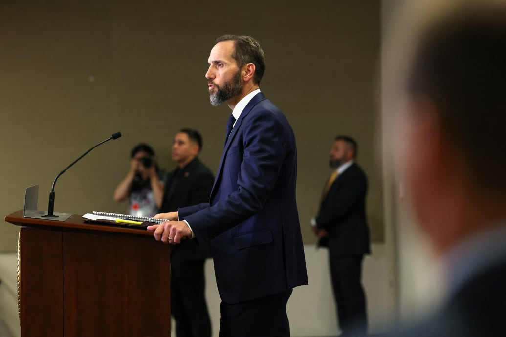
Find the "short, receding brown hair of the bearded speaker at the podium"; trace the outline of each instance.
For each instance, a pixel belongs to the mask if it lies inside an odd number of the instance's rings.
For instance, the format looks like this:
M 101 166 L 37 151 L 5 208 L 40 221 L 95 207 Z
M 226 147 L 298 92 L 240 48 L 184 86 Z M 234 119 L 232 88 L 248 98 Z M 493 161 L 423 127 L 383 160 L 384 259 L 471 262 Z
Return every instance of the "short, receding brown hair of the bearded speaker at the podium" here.
M 237 62 L 237 66 L 242 68 L 248 63 L 255 65 L 255 75 L 253 81 L 260 84 L 265 72 L 265 56 L 259 41 L 246 35 L 223 35 L 216 39 L 215 43 L 222 41 L 234 41 L 235 50 L 232 58 Z

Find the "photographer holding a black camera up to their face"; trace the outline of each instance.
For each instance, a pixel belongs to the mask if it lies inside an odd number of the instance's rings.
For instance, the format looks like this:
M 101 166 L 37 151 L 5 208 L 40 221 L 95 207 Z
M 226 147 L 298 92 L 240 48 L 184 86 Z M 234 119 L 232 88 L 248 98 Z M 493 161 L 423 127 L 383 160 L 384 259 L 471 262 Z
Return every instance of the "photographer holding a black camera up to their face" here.
M 130 170 L 114 191 L 114 201 L 129 198 L 130 215 L 152 217 L 161 206 L 166 172 L 158 168 L 154 156 L 144 143 L 132 149 Z

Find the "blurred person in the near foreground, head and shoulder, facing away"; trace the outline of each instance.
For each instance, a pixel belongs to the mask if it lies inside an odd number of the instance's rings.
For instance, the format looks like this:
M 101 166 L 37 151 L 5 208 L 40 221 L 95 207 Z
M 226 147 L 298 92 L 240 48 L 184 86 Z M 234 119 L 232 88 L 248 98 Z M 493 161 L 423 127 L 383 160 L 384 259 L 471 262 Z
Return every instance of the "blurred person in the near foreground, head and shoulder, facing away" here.
M 460 2 L 419 33 L 402 92 L 400 176 L 445 294 L 392 335 L 505 336 L 506 3 Z

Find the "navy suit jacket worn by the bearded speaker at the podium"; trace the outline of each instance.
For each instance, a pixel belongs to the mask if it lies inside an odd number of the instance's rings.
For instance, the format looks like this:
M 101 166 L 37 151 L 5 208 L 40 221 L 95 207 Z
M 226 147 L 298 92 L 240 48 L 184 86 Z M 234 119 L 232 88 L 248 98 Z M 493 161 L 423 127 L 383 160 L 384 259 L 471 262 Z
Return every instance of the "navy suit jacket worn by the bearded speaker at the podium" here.
M 212 242 L 224 302 L 308 283 L 296 180 L 293 130 L 283 113 L 258 93 L 225 143 L 209 203 L 179 209 L 196 238 Z

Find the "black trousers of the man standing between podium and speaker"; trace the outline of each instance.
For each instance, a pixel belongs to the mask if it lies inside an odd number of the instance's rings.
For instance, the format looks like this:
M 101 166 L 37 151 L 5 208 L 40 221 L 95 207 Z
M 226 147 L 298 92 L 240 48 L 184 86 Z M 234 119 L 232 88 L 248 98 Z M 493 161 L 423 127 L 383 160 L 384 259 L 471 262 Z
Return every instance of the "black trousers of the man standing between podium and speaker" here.
M 210 337 L 211 321 L 205 302 L 205 260 L 171 266 L 171 314 L 177 337 Z

